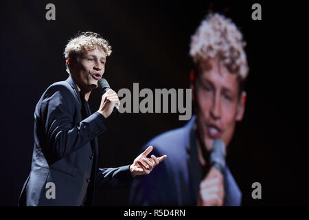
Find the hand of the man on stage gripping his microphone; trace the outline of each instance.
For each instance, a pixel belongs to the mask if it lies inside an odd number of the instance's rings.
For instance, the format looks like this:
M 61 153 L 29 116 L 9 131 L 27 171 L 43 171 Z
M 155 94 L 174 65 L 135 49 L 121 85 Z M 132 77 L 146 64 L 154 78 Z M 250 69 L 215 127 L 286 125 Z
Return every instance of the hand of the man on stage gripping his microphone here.
M 102 96 L 98 112 L 102 113 L 104 118 L 107 118 L 113 112 L 115 104 L 120 105 L 119 98 L 113 89 L 108 89 Z

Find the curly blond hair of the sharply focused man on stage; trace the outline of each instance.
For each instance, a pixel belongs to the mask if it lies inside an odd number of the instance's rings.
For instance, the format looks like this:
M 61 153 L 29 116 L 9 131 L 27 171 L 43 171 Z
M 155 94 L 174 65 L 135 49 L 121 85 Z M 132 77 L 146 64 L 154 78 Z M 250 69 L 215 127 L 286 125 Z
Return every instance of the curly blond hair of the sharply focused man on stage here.
M 110 56 L 112 52 L 111 45 L 100 34 L 95 32 L 81 32 L 68 41 L 63 54 L 65 54 L 65 60 L 67 61 L 68 58 L 75 59 L 77 55 L 86 50 L 91 51 L 95 49 L 103 50 L 106 56 Z M 69 73 L 68 66 L 67 72 Z

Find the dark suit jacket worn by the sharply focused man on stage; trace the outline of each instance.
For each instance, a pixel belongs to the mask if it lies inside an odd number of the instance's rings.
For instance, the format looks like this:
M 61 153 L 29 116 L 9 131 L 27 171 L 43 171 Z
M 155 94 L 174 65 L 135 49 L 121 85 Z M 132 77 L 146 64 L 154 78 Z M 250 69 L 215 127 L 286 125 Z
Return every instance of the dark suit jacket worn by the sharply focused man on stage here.
M 82 107 L 71 77 L 49 86 L 36 104 L 32 166 L 19 206 L 93 205 L 97 186 L 130 185 L 129 166 L 97 168 L 97 136 L 106 131 L 105 118 L 95 112 L 82 120 Z M 48 183 L 55 186 L 55 199 L 48 197 Z

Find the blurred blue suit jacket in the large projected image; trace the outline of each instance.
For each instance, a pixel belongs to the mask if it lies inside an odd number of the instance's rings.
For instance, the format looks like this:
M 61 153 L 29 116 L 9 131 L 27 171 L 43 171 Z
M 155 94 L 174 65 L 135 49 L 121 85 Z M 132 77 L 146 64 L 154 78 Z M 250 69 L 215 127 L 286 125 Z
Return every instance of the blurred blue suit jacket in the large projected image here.
M 133 206 L 196 206 L 203 170 L 198 159 L 195 116 L 179 129 L 163 133 L 152 145 L 155 156 L 168 155 L 149 175 L 135 177 L 130 192 Z M 144 150 L 144 149 L 143 149 Z M 224 206 L 240 206 L 242 193 L 227 166 L 223 177 Z

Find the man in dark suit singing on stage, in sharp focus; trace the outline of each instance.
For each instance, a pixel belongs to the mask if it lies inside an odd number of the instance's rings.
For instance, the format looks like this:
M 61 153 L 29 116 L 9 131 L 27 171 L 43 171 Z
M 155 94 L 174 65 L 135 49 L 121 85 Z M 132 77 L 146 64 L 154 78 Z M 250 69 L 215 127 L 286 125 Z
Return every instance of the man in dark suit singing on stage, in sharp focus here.
M 19 206 L 92 206 L 96 187 L 130 186 L 133 177 L 149 174 L 165 159 L 146 157 L 149 146 L 130 166 L 97 168 L 97 137 L 120 102 L 108 89 L 91 114 L 87 101 L 110 54 L 111 46 L 97 33 L 81 33 L 67 43 L 69 78 L 49 86 L 36 104 L 32 166 Z

